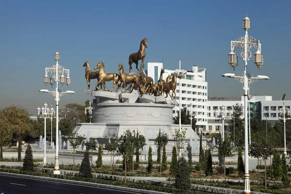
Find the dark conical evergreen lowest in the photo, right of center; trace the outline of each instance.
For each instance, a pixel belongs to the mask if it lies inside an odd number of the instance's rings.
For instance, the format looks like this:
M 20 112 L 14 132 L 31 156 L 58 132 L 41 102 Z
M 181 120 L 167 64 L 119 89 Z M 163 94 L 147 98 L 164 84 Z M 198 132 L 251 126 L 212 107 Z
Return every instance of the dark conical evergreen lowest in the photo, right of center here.
M 187 190 L 191 188 L 190 172 L 184 157 L 179 158 L 178 172 L 176 173 L 175 186 L 177 189 Z

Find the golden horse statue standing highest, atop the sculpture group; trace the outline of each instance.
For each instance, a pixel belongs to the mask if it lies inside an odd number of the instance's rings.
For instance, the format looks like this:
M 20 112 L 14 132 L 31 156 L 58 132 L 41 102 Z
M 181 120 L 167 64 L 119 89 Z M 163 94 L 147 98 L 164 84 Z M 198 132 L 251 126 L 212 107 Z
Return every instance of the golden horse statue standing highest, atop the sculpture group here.
M 129 66 L 130 66 L 129 73 L 130 73 L 130 70 L 132 69 L 132 67 L 131 67 L 132 63 L 135 63 L 136 69 L 139 71 L 139 69 L 137 67 L 139 60 L 142 60 L 141 69 L 142 69 L 142 66 L 143 66 L 143 68 L 145 68 L 145 57 L 146 57 L 145 47 L 147 48 L 147 38 L 145 38 L 141 41 L 140 49 L 137 52 L 131 53 L 129 55 Z

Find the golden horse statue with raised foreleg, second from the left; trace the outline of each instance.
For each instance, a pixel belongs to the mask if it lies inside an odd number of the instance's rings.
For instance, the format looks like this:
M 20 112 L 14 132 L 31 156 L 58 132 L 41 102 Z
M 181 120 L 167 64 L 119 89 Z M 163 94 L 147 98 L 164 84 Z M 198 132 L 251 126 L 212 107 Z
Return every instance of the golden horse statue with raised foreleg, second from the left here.
M 98 87 L 98 84 L 101 82 L 105 82 L 105 81 L 112 81 L 113 80 L 113 87 L 111 88 L 110 92 L 113 90 L 113 88 L 115 87 L 115 85 L 117 85 L 120 77 L 118 74 L 116 73 L 106 73 L 104 71 L 104 64 L 103 61 L 100 61 L 96 67 L 94 68 L 94 70 L 99 69 L 99 81 L 96 84 L 96 88 L 94 89 L 96 90 L 100 90 Z M 116 90 L 117 90 L 117 86 L 116 86 Z

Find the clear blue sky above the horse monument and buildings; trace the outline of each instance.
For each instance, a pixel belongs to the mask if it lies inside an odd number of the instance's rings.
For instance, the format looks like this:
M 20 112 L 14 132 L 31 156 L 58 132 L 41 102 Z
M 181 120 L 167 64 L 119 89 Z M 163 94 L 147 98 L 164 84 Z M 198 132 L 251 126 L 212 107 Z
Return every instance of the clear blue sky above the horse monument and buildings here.
M 260 71 L 249 61 L 252 75 L 266 75 L 269 81 L 256 81 L 251 95 L 279 99 L 290 92 L 291 1 L 79 1 L 10 0 L 0 1 L 0 107 L 12 104 L 36 113 L 45 101 L 55 105 L 52 96 L 39 93 L 45 87 L 45 67 L 55 64 L 70 69 L 73 90 L 60 100 L 83 104 L 92 99 L 83 91 L 85 60 L 91 69 L 103 60 L 105 71 L 118 73 L 122 62 L 129 71 L 129 54 L 139 49 L 147 37 L 146 62 L 162 62 L 164 68 L 190 70 L 192 65 L 207 69 L 209 97 L 238 97 L 242 84 L 222 78 L 232 73 L 227 64 L 230 41 L 244 35 L 242 19 L 251 19 L 249 35 L 260 40 L 264 66 Z M 256 50 L 252 49 L 252 53 Z M 240 51 L 238 51 L 239 53 Z M 134 67 L 133 67 L 134 68 Z M 243 71 L 240 59 L 235 74 Z M 92 81 L 93 88 L 95 81 Z M 110 86 L 111 83 L 108 83 Z

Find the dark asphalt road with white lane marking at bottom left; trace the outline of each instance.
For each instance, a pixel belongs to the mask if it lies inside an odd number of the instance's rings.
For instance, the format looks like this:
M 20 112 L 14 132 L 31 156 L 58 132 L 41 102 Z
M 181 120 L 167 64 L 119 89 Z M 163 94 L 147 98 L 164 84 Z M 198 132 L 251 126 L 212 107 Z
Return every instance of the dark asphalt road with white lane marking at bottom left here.
M 4 194 L 136 194 L 97 187 L 0 175 Z

